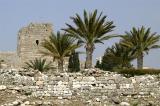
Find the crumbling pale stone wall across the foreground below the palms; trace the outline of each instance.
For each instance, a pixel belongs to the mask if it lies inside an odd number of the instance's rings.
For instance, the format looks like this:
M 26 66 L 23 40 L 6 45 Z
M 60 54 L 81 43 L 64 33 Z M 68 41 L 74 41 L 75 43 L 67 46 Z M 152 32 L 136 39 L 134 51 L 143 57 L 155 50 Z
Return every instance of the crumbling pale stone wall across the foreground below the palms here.
M 1 70 L 0 79 L 0 90 L 4 86 L 5 89 L 16 87 L 26 92 L 29 97 L 78 100 L 89 106 L 95 103 L 97 104 L 95 106 L 136 104 L 159 106 L 160 104 L 160 78 L 155 75 L 125 78 L 110 72 L 92 76 L 81 73 L 59 73 L 48 76 L 39 73 L 29 77 L 18 71 Z

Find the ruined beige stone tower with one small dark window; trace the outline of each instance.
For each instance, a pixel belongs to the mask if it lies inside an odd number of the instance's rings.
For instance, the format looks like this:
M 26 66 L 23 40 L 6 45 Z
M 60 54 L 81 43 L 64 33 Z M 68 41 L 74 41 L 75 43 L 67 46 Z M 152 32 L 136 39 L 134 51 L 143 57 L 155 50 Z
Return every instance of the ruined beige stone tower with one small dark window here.
M 41 42 L 52 33 L 52 25 L 48 23 L 31 23 L 20 29 L 18 33 L 17 55 L 20 63 L 42 56 Z

